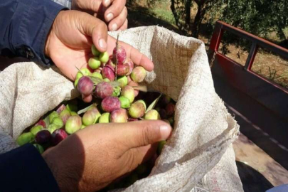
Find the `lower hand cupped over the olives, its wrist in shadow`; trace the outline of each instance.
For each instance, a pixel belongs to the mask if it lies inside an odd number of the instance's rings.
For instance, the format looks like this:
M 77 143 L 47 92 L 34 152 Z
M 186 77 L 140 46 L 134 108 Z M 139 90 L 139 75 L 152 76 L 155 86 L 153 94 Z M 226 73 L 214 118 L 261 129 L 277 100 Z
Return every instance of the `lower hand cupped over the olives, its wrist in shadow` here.
M 148 160 L 155 153 L 151 144 L 168 139 L 171 130 L 159 120 L 95 124 L 46 150 L 43 158 L 61 191 L 97 191 Z

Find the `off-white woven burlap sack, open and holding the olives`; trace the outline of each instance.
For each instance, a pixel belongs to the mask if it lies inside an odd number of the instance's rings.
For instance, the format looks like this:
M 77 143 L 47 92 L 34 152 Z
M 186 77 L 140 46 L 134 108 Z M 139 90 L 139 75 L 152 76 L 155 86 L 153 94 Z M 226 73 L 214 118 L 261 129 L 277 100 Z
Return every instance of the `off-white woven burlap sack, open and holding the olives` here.
M 153 60 L 149 89 L 177 101 L 174 132 L 156 166 L 124 191 L 242 191 L 232 148 L 239 126 L 215 93 L 203 42 L 157 26 L 131 28 L 119 39 Z M 48 110 L 78 95 L 56 68 L 34 63 L 6 68 L 0 87 L 1 153 Z

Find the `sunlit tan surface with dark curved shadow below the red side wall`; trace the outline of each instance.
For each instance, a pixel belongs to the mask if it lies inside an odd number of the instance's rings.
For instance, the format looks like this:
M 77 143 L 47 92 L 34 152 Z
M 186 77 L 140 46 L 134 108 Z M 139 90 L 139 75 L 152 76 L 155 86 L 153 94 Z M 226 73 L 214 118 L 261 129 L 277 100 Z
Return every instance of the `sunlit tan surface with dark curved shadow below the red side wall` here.
M 265 191 L 272 186 L 288 183 L 288 171 L 244 134 L 240 134 L 233 143 L 233 148 L 240 178 L 246 185 L 244 187 L 249 188 L 249 191 L 255 186 L 258 191 L 260 191 L 260 187 L 261 191 Z M 257 158 L 255 158 L 256 156 Z M 255 183 L 259 183 L 259 185 L 255 185 Z M 245 191 L 247 192 L 247 190 Z

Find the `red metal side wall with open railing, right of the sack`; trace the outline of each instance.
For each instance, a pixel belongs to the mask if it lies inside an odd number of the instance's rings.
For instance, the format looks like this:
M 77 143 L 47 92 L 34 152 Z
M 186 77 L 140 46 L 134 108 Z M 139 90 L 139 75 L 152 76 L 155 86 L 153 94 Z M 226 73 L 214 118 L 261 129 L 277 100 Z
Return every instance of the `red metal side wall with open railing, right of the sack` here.
M 244 66 L 219 53 L 224 31 L 252 43 Z M 288 90 L 251 70 L 260 47 L 288 59 L 287 49 L 217 21 L 208 50 L 215 91 L 235 114 L 240 132 L 288 170 Z

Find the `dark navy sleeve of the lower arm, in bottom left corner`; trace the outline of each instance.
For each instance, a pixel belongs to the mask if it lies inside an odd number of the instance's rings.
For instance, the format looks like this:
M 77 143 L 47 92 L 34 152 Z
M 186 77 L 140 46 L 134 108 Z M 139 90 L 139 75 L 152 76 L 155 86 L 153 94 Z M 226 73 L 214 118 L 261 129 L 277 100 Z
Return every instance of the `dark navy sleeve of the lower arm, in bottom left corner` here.
M 32 144 L 0 155 L 0 191 L 60 191 L 46 161 Z

